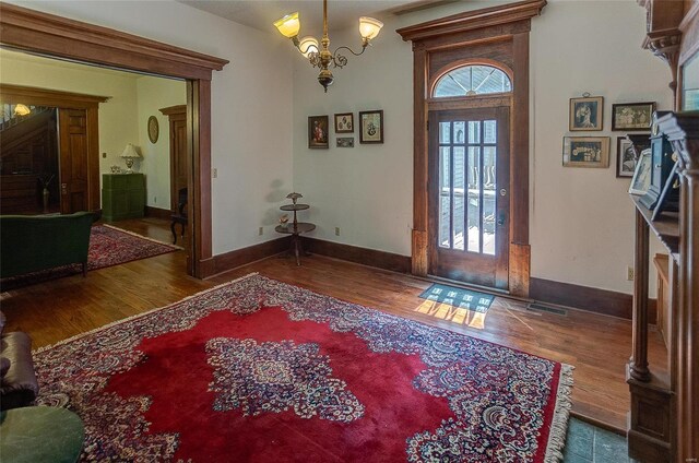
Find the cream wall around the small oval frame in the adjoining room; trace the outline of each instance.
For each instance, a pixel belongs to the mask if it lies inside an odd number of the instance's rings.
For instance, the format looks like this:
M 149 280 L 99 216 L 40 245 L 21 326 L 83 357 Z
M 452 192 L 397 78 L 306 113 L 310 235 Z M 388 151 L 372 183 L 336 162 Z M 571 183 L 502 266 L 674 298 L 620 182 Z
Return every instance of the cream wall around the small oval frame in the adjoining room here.
M 141 76 L 137 80 L 138 123 L 141 149 L 141 169 L 146 174 L 146 205 L 170 209 L 170 138 L 169 120 L 159 109 L 187 104 L 187 83 L 173 79 Z M 159 135 L 157 142 L 149 140 L 147 122 L 157 118 Z

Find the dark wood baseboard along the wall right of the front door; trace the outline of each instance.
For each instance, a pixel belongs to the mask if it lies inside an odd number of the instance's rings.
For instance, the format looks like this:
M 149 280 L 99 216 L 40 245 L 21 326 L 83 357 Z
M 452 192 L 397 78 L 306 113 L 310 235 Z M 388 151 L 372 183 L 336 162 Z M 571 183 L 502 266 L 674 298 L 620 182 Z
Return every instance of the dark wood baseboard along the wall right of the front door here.
M 633 296 L 630 294 L 544 278 L 530 278 L 529 297 L 541 302 L 567 306 L 631 320 Z M 655 302 L 655 299 L 648 300 L 651 323 L 655 323 L 656 320 Z

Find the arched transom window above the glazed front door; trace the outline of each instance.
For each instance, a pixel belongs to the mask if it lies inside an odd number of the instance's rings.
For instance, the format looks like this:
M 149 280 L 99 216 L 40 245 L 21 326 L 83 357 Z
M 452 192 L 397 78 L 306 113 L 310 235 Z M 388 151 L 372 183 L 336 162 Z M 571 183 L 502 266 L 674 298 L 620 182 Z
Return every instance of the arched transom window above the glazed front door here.
M 473 96 L 512 92 L 512 83 L 491 66 L 463 66 L 447 72 L 435 85 L 434 97 Z

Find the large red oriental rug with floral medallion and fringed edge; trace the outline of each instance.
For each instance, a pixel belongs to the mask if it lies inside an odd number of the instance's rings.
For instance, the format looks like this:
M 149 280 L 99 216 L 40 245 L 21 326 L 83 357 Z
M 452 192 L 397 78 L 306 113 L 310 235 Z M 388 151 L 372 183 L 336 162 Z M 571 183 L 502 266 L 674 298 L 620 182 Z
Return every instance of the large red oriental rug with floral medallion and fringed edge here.
M 35 353 L 83 461 L 555 462 L 572 368 L 260 275 Z

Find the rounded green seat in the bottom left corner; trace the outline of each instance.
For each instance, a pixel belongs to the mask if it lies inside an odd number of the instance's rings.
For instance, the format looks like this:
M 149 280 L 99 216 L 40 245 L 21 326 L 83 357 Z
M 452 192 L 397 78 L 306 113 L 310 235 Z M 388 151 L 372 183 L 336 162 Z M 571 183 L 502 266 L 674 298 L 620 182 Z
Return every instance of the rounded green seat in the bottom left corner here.
M 0 413 L 0 455 L 13 463 L 74 463 L 85 430 L 73 412 L 27 406 Z

